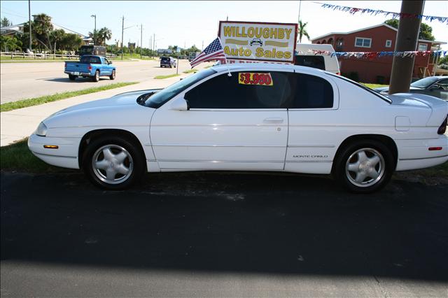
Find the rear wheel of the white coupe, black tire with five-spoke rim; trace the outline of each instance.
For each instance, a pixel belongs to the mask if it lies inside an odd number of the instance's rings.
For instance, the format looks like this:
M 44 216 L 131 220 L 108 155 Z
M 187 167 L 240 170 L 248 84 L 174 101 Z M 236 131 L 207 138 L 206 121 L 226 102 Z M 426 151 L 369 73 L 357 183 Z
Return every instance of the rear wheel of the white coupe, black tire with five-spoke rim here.
M 369 193 L 381 190 L 391 180 L 394 168 L 393 154 L 384 143 L 355 141 L 338 153 L 332 176 L 346 190 Z

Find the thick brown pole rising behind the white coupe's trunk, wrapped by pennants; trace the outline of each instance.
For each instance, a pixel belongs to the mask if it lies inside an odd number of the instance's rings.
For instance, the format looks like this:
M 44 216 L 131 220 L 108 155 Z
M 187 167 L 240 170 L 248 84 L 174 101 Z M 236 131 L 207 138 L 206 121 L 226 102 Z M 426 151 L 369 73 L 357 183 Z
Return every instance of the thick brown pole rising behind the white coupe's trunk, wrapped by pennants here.
M 424 0 L 402 1 L 400 23 L 398 24 L 395 52 L 414 51 L 419 41 L 421 18 L 403 17 L 423 14 Z M 389 94 L 409 92 L 414 70 L 414 57 L 393 56 Z

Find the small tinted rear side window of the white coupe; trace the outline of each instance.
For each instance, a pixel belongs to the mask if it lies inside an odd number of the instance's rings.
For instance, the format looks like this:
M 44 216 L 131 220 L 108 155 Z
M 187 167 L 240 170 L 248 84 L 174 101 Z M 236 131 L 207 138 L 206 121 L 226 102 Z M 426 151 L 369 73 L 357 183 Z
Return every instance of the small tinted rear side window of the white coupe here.
M 292 108 L 332 108 L 333 88 L 327 80 L 304 73 L 294 75 Z

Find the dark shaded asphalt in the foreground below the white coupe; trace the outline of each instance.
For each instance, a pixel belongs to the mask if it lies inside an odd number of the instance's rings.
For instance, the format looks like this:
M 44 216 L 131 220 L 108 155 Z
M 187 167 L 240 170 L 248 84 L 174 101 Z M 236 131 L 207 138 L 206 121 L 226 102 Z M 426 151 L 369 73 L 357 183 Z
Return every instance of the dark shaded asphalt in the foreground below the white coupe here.
M 413 176 L 415 178 L 415 176 Z M 448 183 L 1 173 L 2 297 L 447 297 Z

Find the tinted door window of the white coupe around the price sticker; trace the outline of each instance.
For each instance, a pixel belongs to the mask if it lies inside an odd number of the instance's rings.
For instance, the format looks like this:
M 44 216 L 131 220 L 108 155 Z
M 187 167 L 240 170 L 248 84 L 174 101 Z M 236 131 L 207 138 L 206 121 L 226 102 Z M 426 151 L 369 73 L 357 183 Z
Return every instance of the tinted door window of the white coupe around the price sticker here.
M 269 73 L 272 85 L 241 84 L 241 73 Z M 287 108 L 292 100 L 289 76 L 277 71 L 224 73 L 188 91 L 185 98 L 190 108 Z

